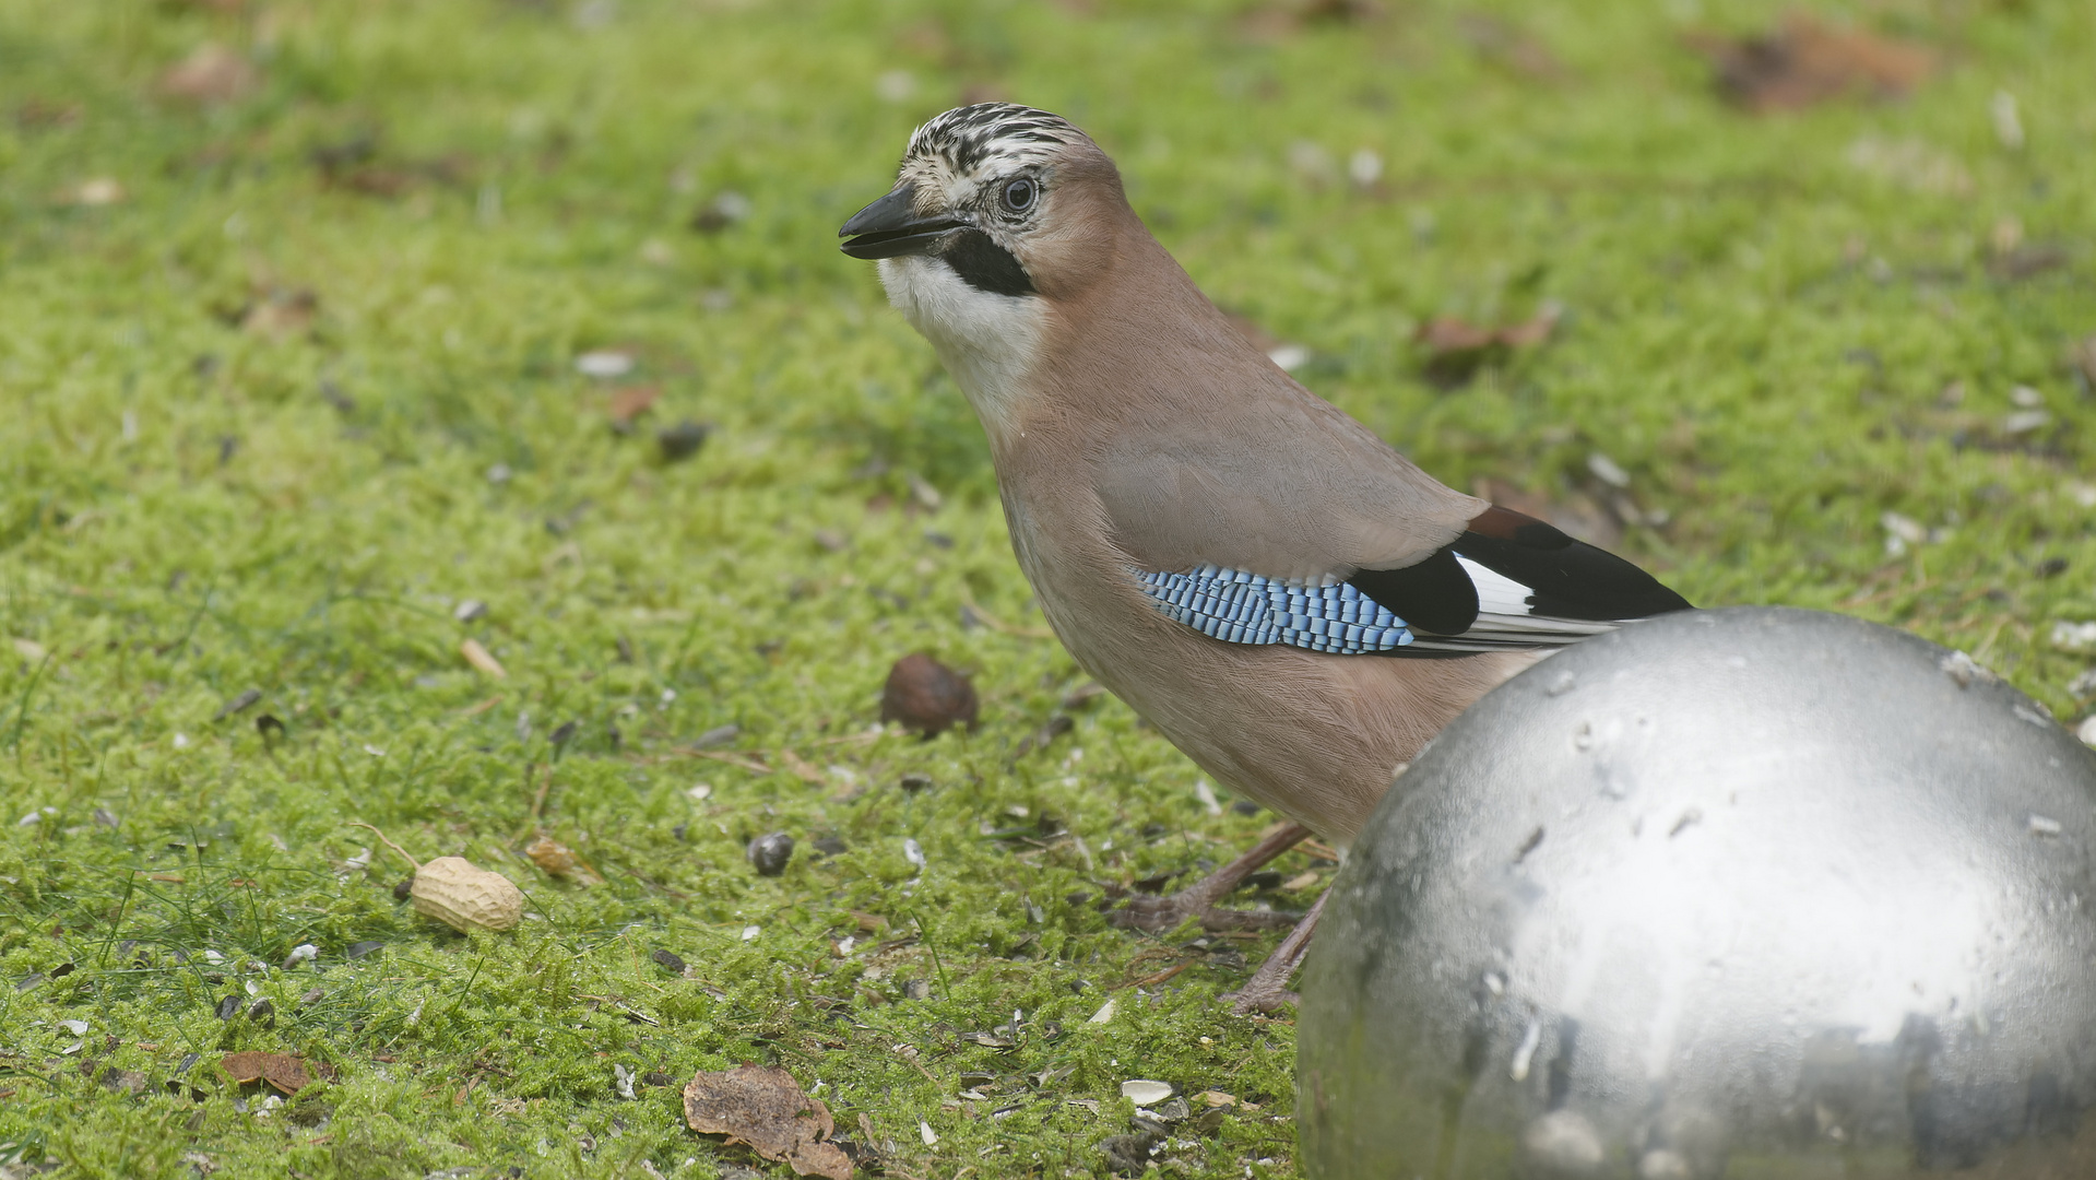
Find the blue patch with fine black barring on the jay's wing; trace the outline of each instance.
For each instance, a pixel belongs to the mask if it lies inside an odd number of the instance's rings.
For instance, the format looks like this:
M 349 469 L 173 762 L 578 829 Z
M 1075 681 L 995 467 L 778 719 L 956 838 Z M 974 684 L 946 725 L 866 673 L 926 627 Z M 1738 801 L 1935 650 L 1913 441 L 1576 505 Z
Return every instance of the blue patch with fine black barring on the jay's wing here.
M 1413 641 L 1402 618 L 1348 583 L 1279 581 L 1220 566 L 1195 566 L 1184 574 L 1136 570 L 1136 578 L 1157 610 L 1228 643 L 1287 643 L 1358 656 Z

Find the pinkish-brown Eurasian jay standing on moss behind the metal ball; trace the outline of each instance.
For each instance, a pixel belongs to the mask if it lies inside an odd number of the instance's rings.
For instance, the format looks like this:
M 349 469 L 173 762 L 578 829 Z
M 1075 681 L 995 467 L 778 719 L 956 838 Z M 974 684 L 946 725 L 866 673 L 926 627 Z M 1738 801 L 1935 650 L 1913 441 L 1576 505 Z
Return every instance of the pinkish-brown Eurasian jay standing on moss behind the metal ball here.
M 1442 486 L 1302 388 L 1195 287 L 1069 122 L 1012 103 L 910 136 L 845 222 L 989 436 L 1012 549 L 1077 664 L 1293 824 L 1119 920 L 1170 928 L 1316 832 L 1549 652 L 1689 604 Z M 1323 901 L 1318 901 L 1318 908 Z M 1316 908 L 1239 996 L 1272 1008 Z

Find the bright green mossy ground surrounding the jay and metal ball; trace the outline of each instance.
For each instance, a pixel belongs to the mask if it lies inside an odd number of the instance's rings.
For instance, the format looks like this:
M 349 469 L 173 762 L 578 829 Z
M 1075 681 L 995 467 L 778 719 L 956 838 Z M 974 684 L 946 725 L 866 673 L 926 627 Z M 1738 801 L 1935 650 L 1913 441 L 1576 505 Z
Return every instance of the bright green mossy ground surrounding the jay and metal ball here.
M 2096 21 L 1876 4 L 1951 67 L 1905 103 L 1752 119 L 1681 34 L 1763 6 L 1696 10 L 1503 17 L 1562 65 L 1530 78 L 1440 2 L 1287 27 L 1237 4 L 0 0 L 0 643 L 34 643 L 0 648 L 0 1151 L 78 1176 L 717 1176 L 752 1161 L 683 1132 L 675 1088 L 618 1098 L 614 1067 L 761 1061 L 853 1134 L 864 1113 L 897 1174 L 1096 1174 L 1126 1077 L 1266 1098 L 1174 1170 L 1291 1174 L 1287 1021 L 1222 1014 L 1241 968 L 1075 897 L 1270 817 L 1203 813 L 1113 700 L 1021 752 L 1082 675 L 962 625 L 1040 622 L 979 430 L 832 249 L 914 122 L 981 88 L 1088 126 L 1220 302 L 1310 346 L 1310 384 L 1444 480 L 1576 499 L 1606 453 L 1666 513 L 1620 547 L 1691 599 L 1912 627 L 2079 715 L 2088 656 L 2048 631 L 2096 616 L 2096 409 L 2065 363 L 2096 333 Z M 256 88 L 159 96 L 203 42 Z M 893 71 L 908 99 L 878 96 Z M 1344 180 L 1358 149 L 1375 189 Z M 94 178 L 124 201 L 67 197 Z M 723 193 L 748 214 L 694 231 Z M 1425 319 L 1545 302 L 1545 350 L 1455 392 L 1419 377 Z M 635 373 L 576 375 L 591 348 Z M 616 434 L 612 386 L 637 384 L 660 400 Z M 2050 425 L 2004 434 L 2016 386 Z M 681 419 L 715 432 L 664 463 L 652 432 Z M 1886 511 L 1947 534 L 1888 558 Z M 457 622 L 465 597 L 486 616 Z M 870 729 L 912 650 L 975 675 L 977 734 Z M 729 723 L 713 752 L 742 765 L 683 752 Z M 748 769 L 782 750 L 822 782 Z M 352 864 L 375 847 L 352 820 L 499 868 L 534 918 L 413 918 L 405 866 Z M 606 882 L 522 859 L 539 828 Z M 801 840 L 780 878 L 742 859 L 767 830 Z M 281 968 L 300 943 L 319 962 Z M 220 1021 L 226 996 L 272 1023 Z M 1014 1010 L 1012 1048 L 970 1037 Z M 216 1073 L 247 1048 L 335 1077 L 264 1113 Z M 968 1071 L 1006 1084 L 958 1098 Z

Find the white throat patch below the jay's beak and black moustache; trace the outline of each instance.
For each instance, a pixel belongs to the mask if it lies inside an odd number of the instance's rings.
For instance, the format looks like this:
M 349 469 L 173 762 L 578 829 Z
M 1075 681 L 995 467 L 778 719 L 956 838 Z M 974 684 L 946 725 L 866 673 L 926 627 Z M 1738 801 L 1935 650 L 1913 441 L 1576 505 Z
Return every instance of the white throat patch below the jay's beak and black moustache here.
M 979 291 L 945 262 L 922 256 L 882 258 L 880 285 L 939 352 L 983 430 L 1000 442 L 1010 436 L 1046 329 L 1042 298 Z

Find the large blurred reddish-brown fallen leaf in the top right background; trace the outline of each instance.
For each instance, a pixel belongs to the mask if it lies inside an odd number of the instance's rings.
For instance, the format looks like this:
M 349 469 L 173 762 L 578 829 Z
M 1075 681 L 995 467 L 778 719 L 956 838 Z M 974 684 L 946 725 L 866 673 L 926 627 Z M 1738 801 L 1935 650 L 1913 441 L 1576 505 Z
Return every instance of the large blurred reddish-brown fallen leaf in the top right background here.
M 1826 25 L 1805 13 L 1784 17 L 1777 34 L 1694 34 L 1687 42 L 1717 67 L 1719 92 L 1756 115 L 1849 94 L 1899 99 L 1937 67 L 1937 54 L 1922 46 Z

